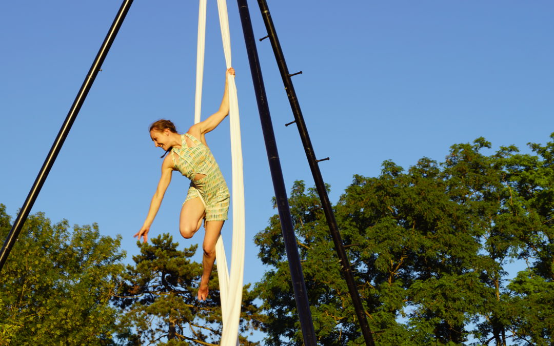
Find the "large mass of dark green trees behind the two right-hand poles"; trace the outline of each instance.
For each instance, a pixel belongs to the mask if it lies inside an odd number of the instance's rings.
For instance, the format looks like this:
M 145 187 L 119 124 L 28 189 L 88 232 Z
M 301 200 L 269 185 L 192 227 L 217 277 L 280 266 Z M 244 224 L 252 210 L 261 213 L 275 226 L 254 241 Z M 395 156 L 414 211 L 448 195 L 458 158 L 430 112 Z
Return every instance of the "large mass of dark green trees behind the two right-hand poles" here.
M 554 344 L 554 142 L 490 147 L 455 144 L 408 171 L 386 161 L 335 206 L 376 344 Z M 315 189 L 296 182 L 289 204 L 319 342 L 363 344 Z M 274 215 L 255 237 L 271 267 L 256 290 L 268 344 L 297 345 L 280 232 Z M 514 261 L 526 269 L 509 278 Z

